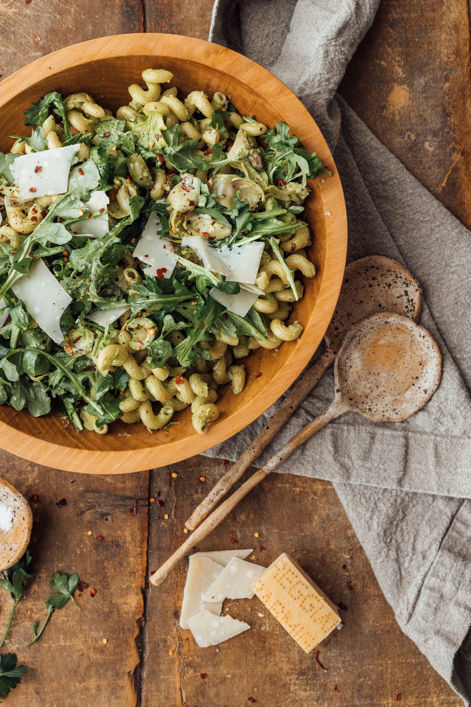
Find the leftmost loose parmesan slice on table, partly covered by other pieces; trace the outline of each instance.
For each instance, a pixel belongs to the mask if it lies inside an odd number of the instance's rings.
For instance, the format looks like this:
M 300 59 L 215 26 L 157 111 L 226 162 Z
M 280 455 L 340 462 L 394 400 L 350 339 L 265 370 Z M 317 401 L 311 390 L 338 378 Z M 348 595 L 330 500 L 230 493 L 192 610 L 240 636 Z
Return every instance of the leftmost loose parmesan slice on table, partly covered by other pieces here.
M 222 572 L 222 565 L 218 565 L 209 557 L 200 557 L 199 553 L 191 555 L 186 583 L 181 603 L 180 626 L 189 629 L 188 619 L 206 609 L 215 616 L 220 616 L 222 602 L 203 601 L 204 592 L 213 584 L 215 578 Z

